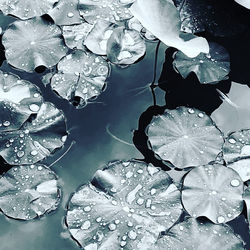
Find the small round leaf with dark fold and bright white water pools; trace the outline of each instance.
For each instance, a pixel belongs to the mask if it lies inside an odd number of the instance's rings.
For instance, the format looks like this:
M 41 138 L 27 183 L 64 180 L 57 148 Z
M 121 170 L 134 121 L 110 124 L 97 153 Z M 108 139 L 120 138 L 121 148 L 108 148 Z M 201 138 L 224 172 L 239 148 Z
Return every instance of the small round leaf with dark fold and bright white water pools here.
M 119 65 L 133 64 L 146 53 L 146 44 L 136 30 L 114 29 L 107 42 L 108 59 Z

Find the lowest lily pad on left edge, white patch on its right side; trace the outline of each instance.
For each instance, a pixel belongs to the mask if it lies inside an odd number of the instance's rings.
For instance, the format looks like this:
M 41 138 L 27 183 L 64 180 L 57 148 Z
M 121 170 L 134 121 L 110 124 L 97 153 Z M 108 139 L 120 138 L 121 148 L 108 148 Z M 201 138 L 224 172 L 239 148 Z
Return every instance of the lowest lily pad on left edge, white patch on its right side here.
M 0 178 L 0 210 L 8 217 L 31 220 L 55 210 L 59 201 L 57 176 L 44 165 L 13 167 Z

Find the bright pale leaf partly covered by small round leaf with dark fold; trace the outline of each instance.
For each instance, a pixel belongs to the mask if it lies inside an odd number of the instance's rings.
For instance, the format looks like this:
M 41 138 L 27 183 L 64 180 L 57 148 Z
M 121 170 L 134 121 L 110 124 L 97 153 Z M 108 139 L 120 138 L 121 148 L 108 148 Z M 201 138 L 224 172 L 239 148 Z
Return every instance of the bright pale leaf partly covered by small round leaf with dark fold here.
M 107 55 L 107 42 L 118 25 L 105 20 L 97 20 L 87 35 L 84 45 L 97 55 Z

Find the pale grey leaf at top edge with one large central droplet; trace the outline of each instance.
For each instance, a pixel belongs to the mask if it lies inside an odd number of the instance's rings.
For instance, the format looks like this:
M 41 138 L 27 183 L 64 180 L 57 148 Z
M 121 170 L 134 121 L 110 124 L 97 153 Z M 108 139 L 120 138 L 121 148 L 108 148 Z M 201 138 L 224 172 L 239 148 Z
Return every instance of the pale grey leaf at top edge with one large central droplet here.
M 78 0 L 60 0 L 48 14 L 57 25 L 72 25 L 84 22 L 78 11 Z

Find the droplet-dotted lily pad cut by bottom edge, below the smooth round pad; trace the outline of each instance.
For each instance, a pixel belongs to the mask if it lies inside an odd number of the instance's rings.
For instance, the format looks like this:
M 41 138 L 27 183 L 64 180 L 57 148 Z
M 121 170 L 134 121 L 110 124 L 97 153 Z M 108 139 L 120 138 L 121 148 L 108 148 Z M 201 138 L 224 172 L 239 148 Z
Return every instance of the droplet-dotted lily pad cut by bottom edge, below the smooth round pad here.
M 245 247 L 243 240 L 229 226 L 190 218 L 172 227 L 159 239 L 156 249 L 240 250 Z

